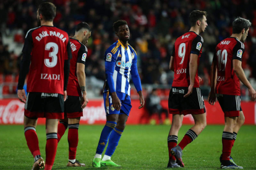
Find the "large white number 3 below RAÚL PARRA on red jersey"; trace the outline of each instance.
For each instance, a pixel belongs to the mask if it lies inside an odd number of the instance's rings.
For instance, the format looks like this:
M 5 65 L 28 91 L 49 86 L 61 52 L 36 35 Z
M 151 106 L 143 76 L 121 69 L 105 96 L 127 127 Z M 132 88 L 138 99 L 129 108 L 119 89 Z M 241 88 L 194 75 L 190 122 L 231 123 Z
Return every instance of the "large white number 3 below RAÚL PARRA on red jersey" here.
M 58 60 L 57 54 L 59 51 L 59 47 L 56 43 L 48 42 L 45 46 L 45 50 L 50 51 L 51 48 L 53 49 L 53 52 L 49 52 L 49 57 L 51 57 L 51 62 L 50 62 L 50 59 L 45 59 L 46 67 L 50 67 L 50 68 L 55 67 L 57 65 L 57 60 Z

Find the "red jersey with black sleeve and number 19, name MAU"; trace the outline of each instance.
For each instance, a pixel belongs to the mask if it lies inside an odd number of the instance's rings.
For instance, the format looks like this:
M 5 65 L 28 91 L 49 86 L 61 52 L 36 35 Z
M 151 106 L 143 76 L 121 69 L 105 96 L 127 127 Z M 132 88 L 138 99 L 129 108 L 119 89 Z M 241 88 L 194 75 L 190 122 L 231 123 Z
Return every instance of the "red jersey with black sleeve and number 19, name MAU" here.
M 233 60 L 242 61 L 244 43 L 237 38 L 229 37 L 216 46 L 213 60 L 217 63 L 216 93 L 227 95 L 241 95 L 240 81 L 233 70 Z

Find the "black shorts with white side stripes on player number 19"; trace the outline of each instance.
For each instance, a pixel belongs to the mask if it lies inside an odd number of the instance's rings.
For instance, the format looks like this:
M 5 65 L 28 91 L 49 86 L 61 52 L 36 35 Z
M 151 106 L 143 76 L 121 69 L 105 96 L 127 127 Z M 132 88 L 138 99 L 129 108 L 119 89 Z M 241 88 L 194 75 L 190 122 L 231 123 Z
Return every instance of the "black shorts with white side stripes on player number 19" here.
M 225 117 L 238 117 L 241 108 L 240 95 L 216 94 Z

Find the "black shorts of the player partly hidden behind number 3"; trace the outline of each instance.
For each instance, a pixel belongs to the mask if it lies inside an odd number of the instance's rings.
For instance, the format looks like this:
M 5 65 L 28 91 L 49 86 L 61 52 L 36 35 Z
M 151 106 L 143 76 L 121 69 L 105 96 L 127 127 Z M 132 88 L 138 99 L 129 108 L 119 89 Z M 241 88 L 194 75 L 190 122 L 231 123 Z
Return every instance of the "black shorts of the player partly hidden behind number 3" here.
M 67 118 L 78 118 L 83 116 L 83 109 L 80 101 L 80 96 L 67 95 L 67 100 L 64 103 L 64 112 L 67 113 Z

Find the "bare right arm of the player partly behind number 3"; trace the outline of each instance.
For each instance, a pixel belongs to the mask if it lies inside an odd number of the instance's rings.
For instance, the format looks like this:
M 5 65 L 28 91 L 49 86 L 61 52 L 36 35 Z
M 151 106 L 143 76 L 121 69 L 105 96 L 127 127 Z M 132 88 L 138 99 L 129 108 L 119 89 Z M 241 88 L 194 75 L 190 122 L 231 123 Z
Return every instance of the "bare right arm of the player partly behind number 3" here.
M 79 81 L 79 86 L 83 93 L 81 107 L 85 108 L 89 100 L 87 98 L 87 92 L 85 89 L 85 65 L 83 63 L 77 63 L 77 79 Z

